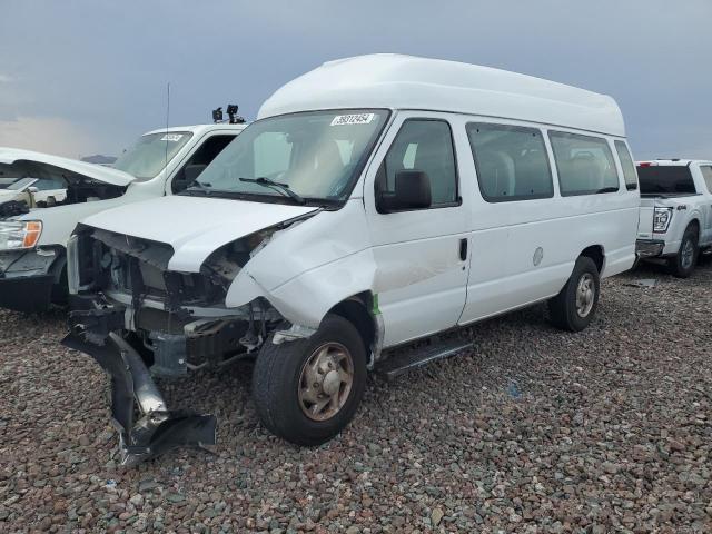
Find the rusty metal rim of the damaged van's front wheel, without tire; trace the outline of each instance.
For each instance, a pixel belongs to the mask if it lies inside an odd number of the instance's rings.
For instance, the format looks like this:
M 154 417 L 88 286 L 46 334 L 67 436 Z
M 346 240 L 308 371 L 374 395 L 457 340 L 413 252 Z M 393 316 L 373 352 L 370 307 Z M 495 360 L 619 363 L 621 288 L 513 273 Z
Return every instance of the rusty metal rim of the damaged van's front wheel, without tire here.
M 299 407 L 312 421 L 326 421 L 344 407 L 354 384 L 354 360 L 340 343 L 325 343 L 307 358 L 299 376 Z

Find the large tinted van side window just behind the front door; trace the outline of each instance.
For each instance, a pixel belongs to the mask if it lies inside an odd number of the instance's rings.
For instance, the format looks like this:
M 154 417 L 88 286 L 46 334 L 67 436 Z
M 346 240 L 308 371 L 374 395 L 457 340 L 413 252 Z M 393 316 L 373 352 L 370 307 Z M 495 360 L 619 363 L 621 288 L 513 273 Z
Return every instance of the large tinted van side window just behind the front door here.
M 477 180 L 488 202 L 551 198 L 552 171 L 542 132 L 518 126 L 468 123 Z

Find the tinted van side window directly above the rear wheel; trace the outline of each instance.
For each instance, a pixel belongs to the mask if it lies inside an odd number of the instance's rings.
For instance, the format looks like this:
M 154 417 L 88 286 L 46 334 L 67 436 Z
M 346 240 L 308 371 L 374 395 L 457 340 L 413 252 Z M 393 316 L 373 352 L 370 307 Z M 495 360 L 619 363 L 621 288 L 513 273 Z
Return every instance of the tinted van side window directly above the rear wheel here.
M 605 139 L 550 131 L 562 197 L 620 189 L 613 152 Z

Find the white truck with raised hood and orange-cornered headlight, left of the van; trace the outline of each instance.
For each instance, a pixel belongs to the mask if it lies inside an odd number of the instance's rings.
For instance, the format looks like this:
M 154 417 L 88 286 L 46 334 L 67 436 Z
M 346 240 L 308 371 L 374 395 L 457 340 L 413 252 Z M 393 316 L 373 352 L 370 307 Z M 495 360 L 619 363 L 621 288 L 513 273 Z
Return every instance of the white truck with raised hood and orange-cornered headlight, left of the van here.
M 0 167 L 10 175 L 52 180 L 66 191 L 50 205 L 30 201 L 0 216 L 0 307 L 42 312 L 51 303 L 61 304 L 67 296 L 67 240 L 81 219 L 186 189 L 245 127 L 214 123 L 149 131 L 112 167 L 0 148 Z

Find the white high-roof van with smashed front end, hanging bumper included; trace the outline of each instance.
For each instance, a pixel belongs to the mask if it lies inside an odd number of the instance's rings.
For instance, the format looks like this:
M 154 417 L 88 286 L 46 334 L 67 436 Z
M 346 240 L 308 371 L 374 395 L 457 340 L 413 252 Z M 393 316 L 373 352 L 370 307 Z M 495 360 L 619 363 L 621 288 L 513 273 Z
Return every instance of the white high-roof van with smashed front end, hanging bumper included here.
M 548 300 L 585 328 L 600 279 L 635 260 L 632 161 L 605 96 L 407 56 L 328 62 L 195 187 L 78 227 L 65 343 L 112 375 L 127 464 L 215 441 L 215 418 L 171 414 L 151 375 L 254 356 L 265 426 L 319 444 L 368 369 L 462 350 L 458 327 Z

